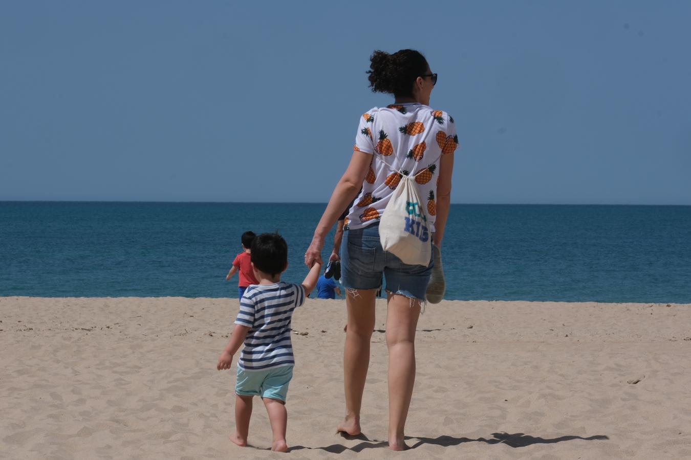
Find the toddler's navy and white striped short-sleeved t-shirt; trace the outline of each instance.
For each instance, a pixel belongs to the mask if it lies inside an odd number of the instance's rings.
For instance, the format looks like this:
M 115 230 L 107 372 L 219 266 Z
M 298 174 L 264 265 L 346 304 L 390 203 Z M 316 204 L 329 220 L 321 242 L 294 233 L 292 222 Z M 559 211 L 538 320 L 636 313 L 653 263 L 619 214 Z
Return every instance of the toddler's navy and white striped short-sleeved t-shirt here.
M 292 366 L 295 360 L 290 319 L 293 310 L 303 303 L 305 288 L 299 284 L 278 281 L 249 286 L 240 299 L 240 312 L 235 319 L 236 324 L 249 328 L 238 366 L 244 370 Z

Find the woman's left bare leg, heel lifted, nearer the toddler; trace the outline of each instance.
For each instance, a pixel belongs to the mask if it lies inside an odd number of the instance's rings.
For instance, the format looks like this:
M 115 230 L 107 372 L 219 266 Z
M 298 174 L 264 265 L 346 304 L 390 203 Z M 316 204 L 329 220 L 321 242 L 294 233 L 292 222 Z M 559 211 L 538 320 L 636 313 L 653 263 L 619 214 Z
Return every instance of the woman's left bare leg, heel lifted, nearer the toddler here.
M 345 419 L 339 431 L 352 436 L 360 434 L 360 409 L 370 366 L 370 340 L 375 328 L 376 289 L 347 290 L 348 325 L 343 350 L 343 388 L 345 390 Z

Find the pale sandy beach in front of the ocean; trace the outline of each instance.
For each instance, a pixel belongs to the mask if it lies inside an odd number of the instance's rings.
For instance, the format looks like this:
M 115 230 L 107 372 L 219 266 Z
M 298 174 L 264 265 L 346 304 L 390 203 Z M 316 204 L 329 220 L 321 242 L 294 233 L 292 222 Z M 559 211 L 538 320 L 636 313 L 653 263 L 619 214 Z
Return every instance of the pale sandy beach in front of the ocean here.
M 227 434 L 235 374 L 218 372 L 237 299 L 0 298 L 0 457 L 275 458 Z M 407 452 L 386 450 L 386 302 L 363 402 L 343 412 L 343 301 L 294 315 L 292 458 L 691 458 L 691 305 L 444 301 L 417 331 Z M 235 368 L 235 364 L 234 364 Z

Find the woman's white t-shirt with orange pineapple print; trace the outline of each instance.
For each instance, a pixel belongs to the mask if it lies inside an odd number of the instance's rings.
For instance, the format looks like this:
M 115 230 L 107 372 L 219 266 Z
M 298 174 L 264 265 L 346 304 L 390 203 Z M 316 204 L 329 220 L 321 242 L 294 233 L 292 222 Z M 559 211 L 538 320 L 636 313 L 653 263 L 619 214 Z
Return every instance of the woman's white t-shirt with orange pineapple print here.
M 368 110 L 360 118 L 354 150 L 372 154 L 372 163 L 345 229 L 363 228 L 381 218 L 401 180 L 400 170 L 415 176 L 419 196 L 427 205 L 428 228 L 434 232 L 439 159 L 453 154 L 457 146 L 453 117 L 442 110 L 417 102 Z

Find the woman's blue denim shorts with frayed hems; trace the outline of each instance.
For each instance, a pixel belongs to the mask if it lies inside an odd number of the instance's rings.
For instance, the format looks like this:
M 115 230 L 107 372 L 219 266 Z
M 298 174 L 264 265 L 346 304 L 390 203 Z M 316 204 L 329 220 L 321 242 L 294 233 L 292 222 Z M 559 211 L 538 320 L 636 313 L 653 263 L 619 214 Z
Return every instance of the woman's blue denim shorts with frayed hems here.
M 425 300 L 427 283 L 434 266 L 408 265 L 381 248 L 379 222 L 343 232 L 341 241 L 341 284 L 346 289 L 375 289 L 381 286 L 393 294 Z

